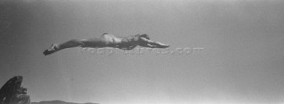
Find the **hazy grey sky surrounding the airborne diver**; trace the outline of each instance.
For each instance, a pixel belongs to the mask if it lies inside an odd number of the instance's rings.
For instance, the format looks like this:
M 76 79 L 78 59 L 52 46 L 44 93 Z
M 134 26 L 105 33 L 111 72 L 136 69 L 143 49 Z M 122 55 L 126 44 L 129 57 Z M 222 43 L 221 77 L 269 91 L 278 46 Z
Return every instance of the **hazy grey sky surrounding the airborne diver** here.
M 32 101 L 101 104 L 284 103 L 284 2 L 6 0 L 0 84 L 24 76 Z M 191 55 L 113 54 L 53 43 L 146 33 Z

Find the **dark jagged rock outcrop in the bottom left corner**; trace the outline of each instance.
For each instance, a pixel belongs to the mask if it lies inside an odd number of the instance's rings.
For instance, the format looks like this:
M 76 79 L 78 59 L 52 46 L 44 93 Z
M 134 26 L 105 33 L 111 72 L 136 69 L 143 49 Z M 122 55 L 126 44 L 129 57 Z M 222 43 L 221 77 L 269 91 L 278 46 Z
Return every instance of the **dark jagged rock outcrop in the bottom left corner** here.
M 30 104 L 27 88 L 21 87 L 22 76 L 14 76 L 0 89 L 0 104 Z

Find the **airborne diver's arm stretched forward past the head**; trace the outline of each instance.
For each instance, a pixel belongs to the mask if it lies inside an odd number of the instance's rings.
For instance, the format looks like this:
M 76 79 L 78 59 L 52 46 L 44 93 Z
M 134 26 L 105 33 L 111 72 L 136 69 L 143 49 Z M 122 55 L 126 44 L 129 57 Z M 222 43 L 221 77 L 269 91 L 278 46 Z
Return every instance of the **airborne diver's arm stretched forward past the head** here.
M 146 39 L 145 37 L 141 37 L 141 40 L 146 43 L 146 47 L 150 48 L 168 48 L 169 44 L 162 44 L 159 42 L 154 42 L 152 40 Z

